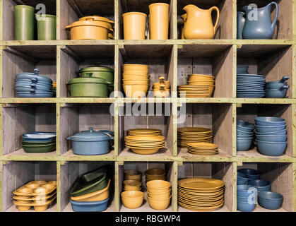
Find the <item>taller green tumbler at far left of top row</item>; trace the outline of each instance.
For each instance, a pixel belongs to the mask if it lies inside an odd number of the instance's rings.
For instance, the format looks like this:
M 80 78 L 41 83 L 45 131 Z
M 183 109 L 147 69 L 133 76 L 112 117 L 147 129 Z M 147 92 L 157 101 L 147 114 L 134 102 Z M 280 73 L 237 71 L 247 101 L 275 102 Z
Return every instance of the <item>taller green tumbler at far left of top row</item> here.
M 34 11 L 32 6 L 14 6 L 16 40 L 34 40 Z

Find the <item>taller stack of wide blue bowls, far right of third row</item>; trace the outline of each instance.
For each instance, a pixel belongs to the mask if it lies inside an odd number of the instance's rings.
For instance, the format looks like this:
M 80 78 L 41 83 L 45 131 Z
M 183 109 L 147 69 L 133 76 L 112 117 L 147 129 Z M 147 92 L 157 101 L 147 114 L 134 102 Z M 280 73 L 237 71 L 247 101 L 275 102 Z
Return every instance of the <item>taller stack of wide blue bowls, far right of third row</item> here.
M 256 145 L 262 155 L 283 155 L 287 148 L 285 119 L 278 117 L 256 117 Z

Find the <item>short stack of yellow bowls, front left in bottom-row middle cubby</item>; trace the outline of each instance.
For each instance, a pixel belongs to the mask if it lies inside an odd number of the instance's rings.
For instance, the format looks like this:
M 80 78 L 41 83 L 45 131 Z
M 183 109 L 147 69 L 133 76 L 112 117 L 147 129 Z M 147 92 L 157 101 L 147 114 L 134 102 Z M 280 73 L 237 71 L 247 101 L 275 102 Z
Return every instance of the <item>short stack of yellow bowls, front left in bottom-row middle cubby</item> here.
M 139 208 L 144 200 L 144 193 L 142 191 L 124 191 L 121 194 L 122 203 L 126 208 Z

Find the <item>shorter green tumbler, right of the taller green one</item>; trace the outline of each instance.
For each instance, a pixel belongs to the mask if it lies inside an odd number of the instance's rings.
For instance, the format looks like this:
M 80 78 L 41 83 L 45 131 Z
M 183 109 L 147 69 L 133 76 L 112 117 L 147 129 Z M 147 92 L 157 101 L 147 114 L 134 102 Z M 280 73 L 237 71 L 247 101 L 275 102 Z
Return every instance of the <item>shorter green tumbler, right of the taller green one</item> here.
M 57 40 L 57 16 L 35 14 L 37 20 L 37 40 Z

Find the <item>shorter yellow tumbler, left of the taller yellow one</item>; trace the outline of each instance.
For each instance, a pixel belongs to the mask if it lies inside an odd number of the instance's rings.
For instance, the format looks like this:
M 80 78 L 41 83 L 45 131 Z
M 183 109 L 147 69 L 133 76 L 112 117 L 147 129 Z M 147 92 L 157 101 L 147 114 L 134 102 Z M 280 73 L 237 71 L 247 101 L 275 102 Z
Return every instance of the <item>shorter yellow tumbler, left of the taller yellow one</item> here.
M 147 15 L 129 12 L 124 13 L 122 17 L 124 18 L 124 40 L 145 40 Z

